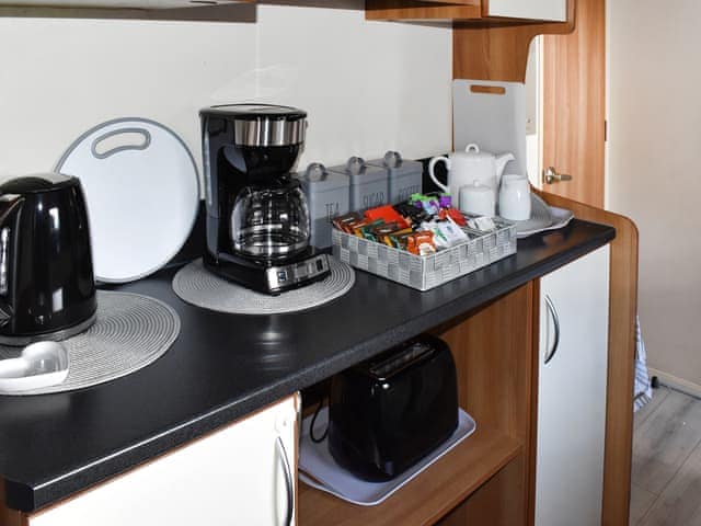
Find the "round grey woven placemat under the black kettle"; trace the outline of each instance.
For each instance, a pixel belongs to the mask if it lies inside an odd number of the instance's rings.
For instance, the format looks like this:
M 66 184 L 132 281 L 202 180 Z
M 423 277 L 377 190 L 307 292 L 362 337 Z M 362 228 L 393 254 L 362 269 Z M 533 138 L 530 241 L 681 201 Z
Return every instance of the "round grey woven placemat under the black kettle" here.
M 138 294 L 97 291 L 97 319 L 85 332 L 64 340 L 69 371 L 62 384 L 13 395 L 70 391 L 114 380 L 160 358 L 180 333 L 180 318 L 168 305 Z M 22 347 L 0 345 L 0 358 Z

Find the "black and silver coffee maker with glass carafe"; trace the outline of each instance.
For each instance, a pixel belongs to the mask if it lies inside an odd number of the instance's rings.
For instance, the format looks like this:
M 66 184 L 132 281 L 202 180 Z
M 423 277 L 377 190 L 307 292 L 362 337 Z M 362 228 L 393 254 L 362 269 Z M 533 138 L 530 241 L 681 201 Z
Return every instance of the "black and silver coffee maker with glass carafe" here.
M 276 295 L 330 273 L 309 245 L 307 199 L 290 171 L 304 144 L 307 114 L 267 104 L 200 112 L 207 199 L 205 266 Z

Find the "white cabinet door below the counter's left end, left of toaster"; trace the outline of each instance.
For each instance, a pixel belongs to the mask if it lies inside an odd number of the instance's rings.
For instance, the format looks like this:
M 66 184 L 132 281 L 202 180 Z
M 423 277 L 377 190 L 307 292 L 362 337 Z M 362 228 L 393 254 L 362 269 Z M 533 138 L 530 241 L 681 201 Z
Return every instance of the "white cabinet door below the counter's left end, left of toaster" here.
M 294 524 L 298 403 L 297 397 L 287 398 L 32 515 L 28 524 Z

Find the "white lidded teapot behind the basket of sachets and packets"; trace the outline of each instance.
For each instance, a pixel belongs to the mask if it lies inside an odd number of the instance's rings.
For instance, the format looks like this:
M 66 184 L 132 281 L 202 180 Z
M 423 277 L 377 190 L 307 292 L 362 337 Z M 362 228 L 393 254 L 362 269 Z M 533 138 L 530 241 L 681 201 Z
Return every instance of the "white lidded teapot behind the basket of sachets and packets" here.
M 478 145 L 468 145 L 464 151 L 455 151 L 450 157 L 434 157 L 428 163 L 428 174 L 444 192 L 456 197 L 459 195 L 460 186 L 472 184 L 474 181 L 490 186 L 496 195 L 506 163 L 515 159 L 513 153 L 495 156 L 489 151 L 480 151 Z M 445 162 L 448 168 L 447 185 L 438 181 L 434 173 L 438 162 Z

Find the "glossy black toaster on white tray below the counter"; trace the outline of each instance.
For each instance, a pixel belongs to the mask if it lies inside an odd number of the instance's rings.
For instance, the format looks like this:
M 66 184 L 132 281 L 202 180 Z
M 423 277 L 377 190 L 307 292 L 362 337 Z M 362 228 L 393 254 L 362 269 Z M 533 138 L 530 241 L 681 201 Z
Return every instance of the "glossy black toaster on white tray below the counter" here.
M 331 381 L 329 450 L 360 479 L 397 477 L 457 426 L 456 366 L 436 336 L 417 336 Z

